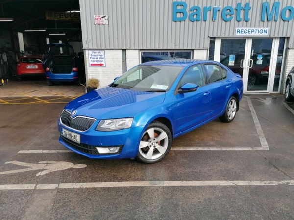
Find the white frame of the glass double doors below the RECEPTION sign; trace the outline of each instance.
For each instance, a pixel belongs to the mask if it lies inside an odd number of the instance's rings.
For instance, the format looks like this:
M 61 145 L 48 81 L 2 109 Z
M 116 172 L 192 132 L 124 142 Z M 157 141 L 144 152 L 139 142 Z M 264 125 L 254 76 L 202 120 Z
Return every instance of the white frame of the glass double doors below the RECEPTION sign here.
M 277 63 L 277 56 L 278 56 L 278 49 L 279 49 L 279 37 L 221 37 L 221 38 L 215 38 L 215 50 L 214 50 L 214 60 L 220 62 L 220 55 L 221 55 L 221 40 L 222 39 L 245 39 L 245 55 L 244 55 L 244 63 L 243 63 L 243 91 L 244 93 L 279 93 L 281 88 L 281 76 L 282 76 L 282 68 L 280 73 L 280 81 L 279 81 L 279 88 L 278 91 L 273 91 L 274 86 L 274 79 L 275 79 L 275 70 L 276 70 L 276 63 Z M 250 66 L 250 53 L 252 48 L 252 40 L 253 39 L 272 39 L 272 46 L 271 46 L 271 56 L 270 56 L 270 69 L 269 69 L 269 78 L 268 78 L 268 85 L 267 90 L 263 91 L 248 91 L 247 90 L 247 82 L 248 82 L 248 76 L 249 76 L 249 66 Z M 286 44 L 286 41 L 285 41 Z M 284 45 L 285 49 L 285 45 Z M 283 61 L 284 61 L 283 54 L 283 60 L 282 60 L 282 67 L 283 67 Z

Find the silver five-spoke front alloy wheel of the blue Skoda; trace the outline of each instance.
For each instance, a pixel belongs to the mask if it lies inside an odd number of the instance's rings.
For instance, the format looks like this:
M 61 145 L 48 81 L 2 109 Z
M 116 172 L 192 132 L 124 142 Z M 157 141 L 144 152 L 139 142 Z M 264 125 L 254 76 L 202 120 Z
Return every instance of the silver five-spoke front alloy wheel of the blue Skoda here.
M 155 160 L 167 151 L 168 134 L 158 127 L 149 128 L 144 132 L 139 145 L 139 154 L 147 160 Z

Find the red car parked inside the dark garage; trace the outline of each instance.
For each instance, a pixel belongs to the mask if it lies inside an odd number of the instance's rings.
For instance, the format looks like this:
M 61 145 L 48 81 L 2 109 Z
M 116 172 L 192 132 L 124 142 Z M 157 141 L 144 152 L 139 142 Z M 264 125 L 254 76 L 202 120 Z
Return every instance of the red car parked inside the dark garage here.
M 22 80 L 24 76 L 44 76 L 43 59 L 41 56 L 22 56 L 17 63 L 17 77 Z

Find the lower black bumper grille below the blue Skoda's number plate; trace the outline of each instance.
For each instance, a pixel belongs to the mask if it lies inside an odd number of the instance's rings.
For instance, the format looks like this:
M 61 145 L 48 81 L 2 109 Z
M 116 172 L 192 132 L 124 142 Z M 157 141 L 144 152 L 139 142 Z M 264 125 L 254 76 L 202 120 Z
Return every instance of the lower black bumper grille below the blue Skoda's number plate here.
M 88 144 L 83 144 L 83 143 L 76 143 L 72 140 L 69 140 L 63 136 L 61 136 L 61 139 L 63 142 L 65 142 L 67 145 L 69 145 L 70 147 L 74 148 L 75 150 L 87 153 L 87 154 L 92 154 L 92 155 L 106 155 L 106 154 L 99 154 L 99 152 L 97 151 L 96 147 L 120 147 L 119 152 L 114 153 L 114 154 L 119 154 L 122 149 L 123 149 L 123 145 L 118 145 L 118 146 L 94 146 L 94 145 L 88 145 Z

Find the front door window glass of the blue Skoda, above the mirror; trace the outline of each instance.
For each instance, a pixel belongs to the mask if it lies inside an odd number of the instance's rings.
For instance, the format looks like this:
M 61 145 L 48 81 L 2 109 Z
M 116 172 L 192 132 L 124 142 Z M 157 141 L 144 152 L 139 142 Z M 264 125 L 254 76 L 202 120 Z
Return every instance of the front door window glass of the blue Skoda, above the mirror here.
M 192 66 L 185 72 L 180 82 L 180 88 L 186 83 L 194 83 L 199 87 L 205 85 L 205 76 L 200 65 Z

